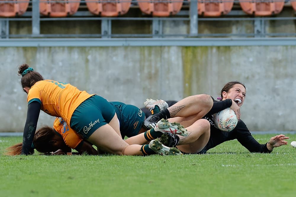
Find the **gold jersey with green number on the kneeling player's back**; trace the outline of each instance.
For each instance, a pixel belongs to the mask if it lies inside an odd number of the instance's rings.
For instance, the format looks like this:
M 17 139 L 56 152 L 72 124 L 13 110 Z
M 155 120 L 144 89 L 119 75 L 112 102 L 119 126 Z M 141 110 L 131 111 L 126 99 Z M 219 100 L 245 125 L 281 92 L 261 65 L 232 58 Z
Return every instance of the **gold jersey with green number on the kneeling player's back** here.
M 28 93 L 28 104 L 37 101 L 45 113 L 62 117 L 67 125 L 75 109 L 86 99 L 93 96 L 86 91 L 80 91 L 70 83 L 53 80 L 43 80 L 35 83 Z

